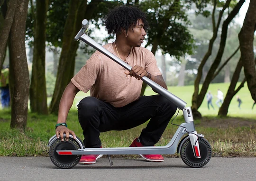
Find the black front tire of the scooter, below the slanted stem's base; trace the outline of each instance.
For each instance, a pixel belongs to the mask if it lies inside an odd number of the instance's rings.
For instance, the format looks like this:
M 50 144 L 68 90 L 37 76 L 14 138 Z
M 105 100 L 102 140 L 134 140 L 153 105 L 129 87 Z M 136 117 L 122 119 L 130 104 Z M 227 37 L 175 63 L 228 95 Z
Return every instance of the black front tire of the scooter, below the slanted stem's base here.
M 183 162 L 193 168 L 199 168 L 206 165 L 210 161 L 212 153 L 210 143 L 206 139 L 198 137 L 198 142 L 201 158 L 195 158 L 189 137 L 181 146 L 180 154 Z

